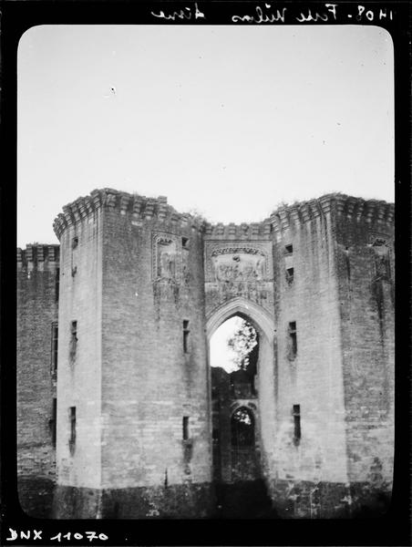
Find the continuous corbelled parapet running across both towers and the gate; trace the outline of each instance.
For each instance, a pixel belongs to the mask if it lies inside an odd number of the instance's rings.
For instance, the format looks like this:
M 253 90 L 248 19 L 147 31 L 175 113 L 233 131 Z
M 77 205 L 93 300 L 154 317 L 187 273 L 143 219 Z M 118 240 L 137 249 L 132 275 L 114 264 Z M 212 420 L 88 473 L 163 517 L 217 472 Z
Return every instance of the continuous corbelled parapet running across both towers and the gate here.
M 172 222 L 181 227 L 191 227 L 203 232 L 206 239 L 268 239 L 271 232 L 284 233 L 291 226 L 304 224 L 316 218 L 345 216 L 355 222 L 368 224 L 393 224 L 395 205 L 386 201 L 363 200 L 340 193 L 326 194 L 320 198 L 283 205 L 263 222 L 242 224 L 211 224 L 188 213 L 177 212 L 168 205 L 167 198 L 147 198 L 139 194 L 105 188 L 94 190 L 86 197 L 63 207 L 53 224 L 57 238 L 71 225 L 75 225 L 102 208 L 117 210 L 121 215 L 129 215 L 132 224 L 141 226 L 145 221 L 157 220 Z

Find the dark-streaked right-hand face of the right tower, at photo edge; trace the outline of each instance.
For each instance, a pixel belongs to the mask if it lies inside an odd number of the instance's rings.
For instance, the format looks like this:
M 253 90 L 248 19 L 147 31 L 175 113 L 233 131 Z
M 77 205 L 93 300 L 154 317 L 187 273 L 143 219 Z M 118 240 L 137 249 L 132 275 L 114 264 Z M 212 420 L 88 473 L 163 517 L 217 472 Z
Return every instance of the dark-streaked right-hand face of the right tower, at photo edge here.
M 394 210 L 383 201 L 344 196 L 336 202 L 347 458 L 361 498 L 392 484 Z

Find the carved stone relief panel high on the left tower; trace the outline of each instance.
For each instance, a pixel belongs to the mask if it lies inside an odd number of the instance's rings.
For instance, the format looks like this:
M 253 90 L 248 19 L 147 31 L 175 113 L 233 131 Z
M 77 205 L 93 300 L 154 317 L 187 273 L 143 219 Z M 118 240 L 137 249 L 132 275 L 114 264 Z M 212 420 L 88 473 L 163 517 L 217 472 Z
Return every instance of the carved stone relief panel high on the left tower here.
M 171 233 L 152 233 L 153 280 L 180 281 L 180 238 Z

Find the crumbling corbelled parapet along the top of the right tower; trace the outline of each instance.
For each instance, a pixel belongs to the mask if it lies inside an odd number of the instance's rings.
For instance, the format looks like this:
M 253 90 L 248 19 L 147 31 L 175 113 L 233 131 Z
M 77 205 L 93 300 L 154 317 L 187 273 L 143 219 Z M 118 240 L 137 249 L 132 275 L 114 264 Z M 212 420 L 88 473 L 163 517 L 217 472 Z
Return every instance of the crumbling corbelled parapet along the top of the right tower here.
M 345 194 L 327 194 L 310 201 L 283 205 L 272 213 L 269 222 L 273 232 L 284 232 L 292 226 L 326 218 L 328 215 L 345 217 L 368 224 L 394 222 L 395 205 L 386 201 L 363 200 Z

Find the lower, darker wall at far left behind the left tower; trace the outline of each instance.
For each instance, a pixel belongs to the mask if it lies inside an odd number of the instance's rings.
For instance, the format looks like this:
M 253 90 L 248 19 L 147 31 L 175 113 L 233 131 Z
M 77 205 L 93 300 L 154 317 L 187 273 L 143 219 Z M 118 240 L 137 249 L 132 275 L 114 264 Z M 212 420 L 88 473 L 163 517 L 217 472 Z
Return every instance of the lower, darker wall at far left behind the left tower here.
M 17 478 L 23 510 L 46 516 L 56 475 L 53 325 L 58 310 L 58 245 L 17 249 Z

